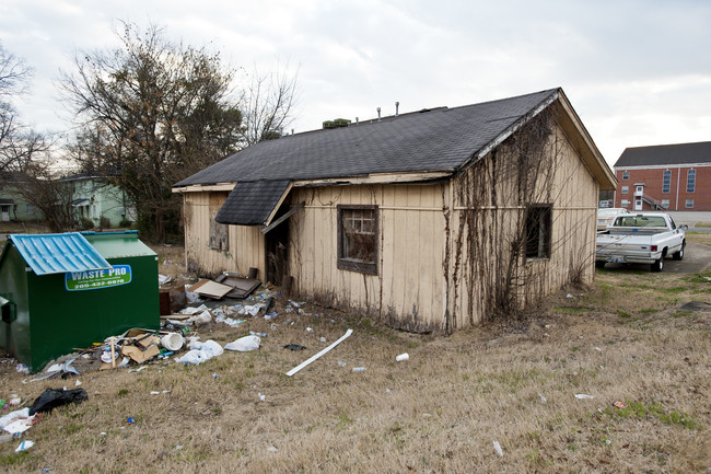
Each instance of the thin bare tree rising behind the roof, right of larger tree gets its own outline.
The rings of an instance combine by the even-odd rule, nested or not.
[[[293,122],[296,78],[298,72],[290,76],[287,68],[268,74],[255,68],[241,101],[242,139],[246,146],[278,138]]]

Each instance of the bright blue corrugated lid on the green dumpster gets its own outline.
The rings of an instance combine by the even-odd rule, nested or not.
[[[36,275],[101,270],[112,267],[79,232],[10,234],[10,240]]]

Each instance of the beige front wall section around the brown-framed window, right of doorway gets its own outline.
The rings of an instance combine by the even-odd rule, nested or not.
[[[397,327],[441,330],[445,310],[443,185],[295,188],[291,274],[296,291]],[[378,207],[378,274],[337,267],[338,205]]]

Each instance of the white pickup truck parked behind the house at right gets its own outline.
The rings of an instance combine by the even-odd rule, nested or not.
[[[664,257],[684,258],[686,226],[678,228],[668,213],[643,212],[617,216],[607,230],[597,233],[595,266],[608,262],[651,264],[662,271]]]

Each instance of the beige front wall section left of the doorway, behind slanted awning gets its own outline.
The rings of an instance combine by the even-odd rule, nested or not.
[[[222,271],[247,275],[250,267],[265,275],[265,239],[258,227],[228,226],[229,248],[210,248],[210,222],[220,210],[228,192],[184,193],[185,257],[188,269],[200,276]]]

